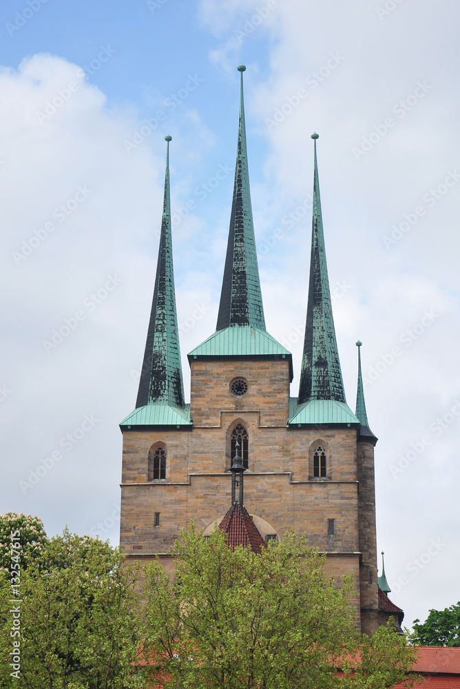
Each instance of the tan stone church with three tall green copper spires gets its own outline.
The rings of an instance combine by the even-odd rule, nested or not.
[[[169,548],[191,519],[206,535],[216,523],[226,528],[239,515],[240,531],[251,531],[253,543],[282,539],[293,528],[326,553],[328,572],[354,575],[362,633],[386,624],[390,615],[400,626],[404,613],[388,599],[386,579],[377,579],[377,438],[364,404],[361,342],[354,413],[342,381],[324,247],[318,135],[311,136],[313,227],[304,350],[298,396],[291,397],[292,355],[264,321],[244,123],[245,69],[238,67],[238,147],[216,332],[188,354],[190,404],[180,363],[171,136],[165,137],[165,196],[147,343],[136,409],[120,424],[121,547],[129,559],[147,562],[158,555],[171,568]]]

